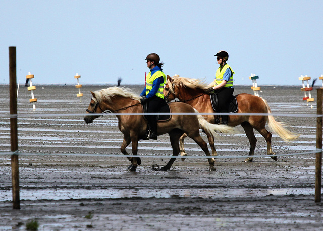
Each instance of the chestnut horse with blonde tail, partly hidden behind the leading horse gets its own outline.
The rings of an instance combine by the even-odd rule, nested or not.
[[[214,113],[210,96],[205,94],[205,89],[210,86],[204,84],[198,79],[188,79],[184,77],[170,77],[167,76],[167,84],[164,86],[164,96],[167,101],[171,101],[178,98],[180,101],[185,102],[200,113]],[[271,113],[271,109],[268,106],[266,100],[250,95],[250,94],[238,94],[236,96],[238,102],[238,113]],[[210,123],[214,123],[214,115],[207,115],[206,120]],[[254,150],[256,147],[257,139],[254,135],[253,129],[257,130],[267,141],[267,155],[275,155],[272,151],[272,134],[267,131],[265,124],[268,121],[269,128],[281,137],[284,141],[290,142],[299,137],[298,134],[292,133],[284,128],[284,123],[277,122],[272,115],[235,115],[229,116],[229,126],[235,127],[241,125],[249,139],[250,151],[248,158],[245,162],[251,162]],[[180,139],[181,156],[186,156],[184,149],[184,138]],[[212,155],[217,156],[216,148],[214,147],[214,139],[210,135],[208,136],[209,144],[212,149]],[[272,159],[277,160],[277,156],[271,156]],[[183,160],[183,159],[182,159]]]

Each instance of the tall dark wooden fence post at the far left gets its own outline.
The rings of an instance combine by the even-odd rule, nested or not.
[[[17,127],[17,75],[16,75],[16,47],[9,47],[9,90],[10,90],[10,144],[11,151],[18,151],[18,127]],[[19,162],[18,154],[11,155],[12,177],[12,207],[20,209],[19,195]]]

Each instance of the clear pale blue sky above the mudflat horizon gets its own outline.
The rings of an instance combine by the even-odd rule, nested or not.
[[[321,1],[0,0],[0,84],[9,83],[9,47],[17,82],[144,84],[145,58],[163,72],[210,83],[220,50],[234,84],[299,85],[323,74]],[[316,82],[322,84],[321,80]]]

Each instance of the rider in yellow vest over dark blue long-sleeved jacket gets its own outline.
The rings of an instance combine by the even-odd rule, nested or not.
[[[146,87],[141,92],[141,104],[148,104],[148,113],[156,113],[160,107],[166,104],[164,99],[164,84],[166,83],[166,75],[163,73],[163,63],[159,63],[160,58],[158,54],[151,53],[146,57],[147,67],[150,72],[146,77]],[[157,116],[147,116],[148,126],[150,126],[150,134],[146,134],[145,139],[157,140]]]

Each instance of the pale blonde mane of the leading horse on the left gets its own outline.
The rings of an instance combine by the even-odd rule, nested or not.
[[[115,96],[121,96],[125,98],[130,98],[140,101],[141,97],[136,96],[131,92],[129,88],[120,88],[120,87],[109,87],[106,89],[98,90],[93,92],[97,99],[98,103],[101,103],[102,100],[107,100],[109,103],[113,103],[112,99]],[[93,99],[95,101],[95,99]]]

